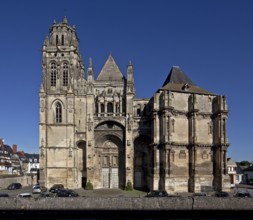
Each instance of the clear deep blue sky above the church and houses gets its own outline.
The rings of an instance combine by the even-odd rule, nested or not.
[[[0,137],[39,152],[41,48],[49,27],[67,16],[95,76],[110,52],[121,71],[131,60],[137,96],[151,97],[178,65],[191,80],[226,95],[228,156],[253,160],[253,1],[0,1]]]

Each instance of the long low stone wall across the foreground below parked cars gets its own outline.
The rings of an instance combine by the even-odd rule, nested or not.
[[[1,198],[0,210],[252,210],[253,198]]]

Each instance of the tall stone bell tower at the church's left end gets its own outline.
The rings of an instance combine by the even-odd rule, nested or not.
[[[86,81],[75,27],[66,16],[51,25],[42,54],[40,182],[47,187],[53,182],[71,187],[75,178],[75,92],[84,93],[80,85]]]

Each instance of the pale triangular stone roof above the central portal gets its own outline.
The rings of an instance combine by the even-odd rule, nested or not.
[[[122,81],[124,79],[118,65],[110,54],[102,70],[100,71],[98,81]]]

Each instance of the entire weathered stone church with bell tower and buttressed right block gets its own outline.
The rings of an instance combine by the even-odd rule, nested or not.
[[[85,69],[66,17],[54,22],[42,50],[40,183],[68,188],[227,190],[228,107],[225,96],[195,85],[173,66],[150,99],[137,98],[109,54]],[[97,77],[95,77],[97,75]]]

